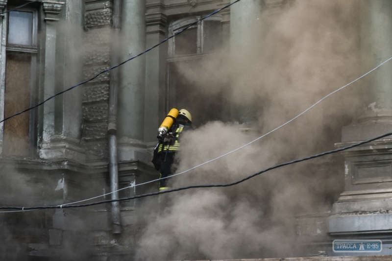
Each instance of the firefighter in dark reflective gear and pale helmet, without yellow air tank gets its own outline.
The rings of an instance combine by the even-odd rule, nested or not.
[[[192,116],[187,110],[181,109],[167,133],[162,137],[158,136],[159,143],[154,151],[156,155],[153,163],[155,168],[159,169],[161,178],[172,175],[174,155],[180,148],[180,135],[182,131],[190,128],[192,128]],[[160,180],[159,191],[169,189],[167,181],[167,178]]]

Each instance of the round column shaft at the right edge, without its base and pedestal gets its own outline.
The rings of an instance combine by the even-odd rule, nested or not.
[[[368,71],[392,57],[392,2],[363,1],[361,8],[361,58]],[[392,115],[391,71],[392,63],[387,63],[366,77],[370,117]]]

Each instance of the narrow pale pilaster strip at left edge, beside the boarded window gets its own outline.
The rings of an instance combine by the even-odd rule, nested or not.
[[[0,0],[0,13],[4,12],[7,5],[7,0]],[[7,37],[7,23],[6,16],[0,16],[0,119],[4,119],[4,97],[5,97],[5,45]],[[4,123],[0,123],[0,154],[2,153],[4,134]]]

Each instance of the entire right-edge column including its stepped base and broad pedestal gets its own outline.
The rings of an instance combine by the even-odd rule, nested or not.
[[[369,71],[392,56],[392,2],[361,2],[361,57]],[[368,111],[356,124],[344,126],[337,147],[365,141],[392,130],[392,63],[366,77]],[[333,205],[329,233],[333,237],[392,238],[392,137],[343,152],[345,191]],[[377,237],[378,238],[378,237]],[[383,240],[384,241],[384,240]],[[391,242],[391,240],[388,240]],[[384,243],[384,242],[383,242]],[[387,247],[389,246],[389,247]],[[391,254],[385,242],[380,255]],[[331,251],[331,254],[332,251]],[[336,254],[334,254],[336,255]]]

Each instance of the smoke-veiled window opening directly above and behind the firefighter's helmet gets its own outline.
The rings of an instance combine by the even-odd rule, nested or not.
[[[195,23],[199,17],[188,17],[172,22],[169,36]],[[166,110],[170,108],[187,109],[192,114],[194,126],[200,126],[210,120],[224,120],[226,111],[221,91],[205,92],[195,79],[187,73],[203,66],[209,52],[222,47],[222,18],[209,17],[170,39],[168,45],[168,80],[166,89]],[[185,71],[187,73],[185,73]],[[213,88],[213,87],[211,87]],[[217,90],[224,89],[217,87]]]

